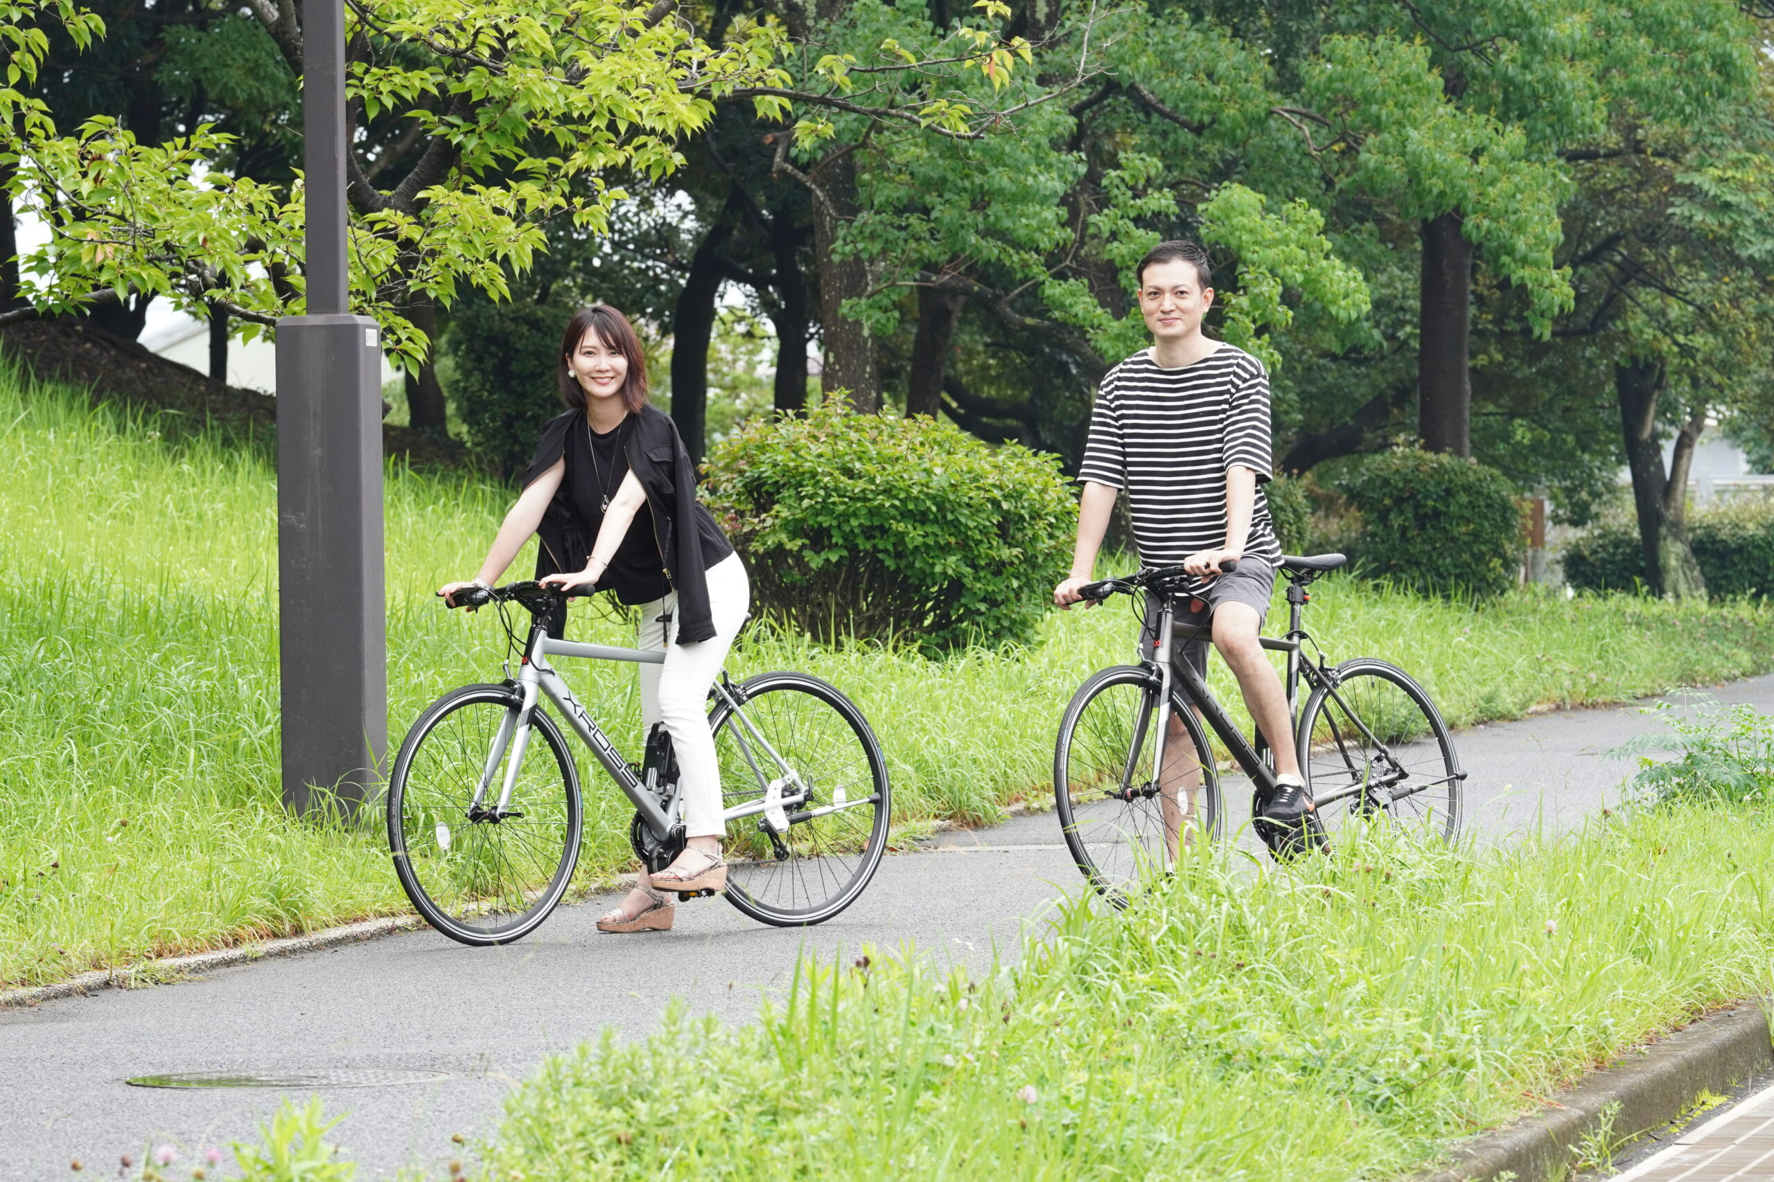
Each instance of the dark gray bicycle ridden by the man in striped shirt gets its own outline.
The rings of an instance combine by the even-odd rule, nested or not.
[[[1295,719],[1300,771],[1315,812],[1304,835],[1272,822],[1254,828],[1276,856],[1311,844],[1334,849],[1352,826],[1385,824],[1451,842],[1460,831],[1465,773],[1430,695],[1401,668],[1373,657],[1330,666],[1313,663],[1316,643],[1300,626],[1307,587],[1345,564],[1343,555],[1284,556],[1288,633],[1263,636],[1288,659],[1288,716]],[[1229,571],[1233,564],[1226,564]],[[1146,569],[1080,588],[1086,599],[1116,594],[1157,597],[1158,643],[1206,638],[1208,629],[1178,624],[1173,597],[1183,567]],[[1299,707],[1300,684],[1311,695]],[[1215,840],[1224,828],[1219,773],[1208,728],[1254,785],[1256,801],[1276,789],[1272,757],[1258,732],[1245,739],[1187,663],[1142,659],[1089,677],[1071,696],[1054,748],[1054,801],[1079,870],[1123,904],[1142,874],[1167,870],[1183,844]],[[1180,730],[1180,735],[1173,732]],[[1256,812],[1252,803],[1252,813]]]

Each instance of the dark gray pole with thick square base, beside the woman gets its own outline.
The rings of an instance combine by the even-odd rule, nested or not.
[[[307,315],[277,323],[284,805],[355,810],[389,748],[381,333],[349,315],[344,5],[302,4]]]

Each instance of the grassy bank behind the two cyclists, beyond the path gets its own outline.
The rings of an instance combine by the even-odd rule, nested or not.
[[[0,984],[404,911],[373,829],[279,806],[263,450],[0,370]],[[396,743],[444,689],[498,677],[493,617],[445,613],[431,590],[474,571],[507,502],[477,478],[389,471]],[[596,606],[575,611],[580,636],[624,629]],[[1522,594],[1471,610],[1332,578],[1309,624],[1332,656],[1416,672],[1455,723],[1774,666],[1774,613],[1746,604]],[[1130,654],[1123,601],[1054,613],[1027,649],[942,663],[759,627],[733,668],[805,668],[848,691],[887,751],[896,822],[917,831],[1043,801],[1061,709],[1086,673]],[[568,677],[614,734],[637,734],[632,670]],[[582,769],[589,884],[626,867],[626,803]]]

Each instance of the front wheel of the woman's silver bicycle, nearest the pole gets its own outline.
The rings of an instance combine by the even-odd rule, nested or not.
[[[406,734],[389,780],[401,888],[431,927],[465,945],[507,945],[536,930],[578,861],[573,757],[539,705],[523,735],[520,705],[509,686],[444,695]],[[500,806],[513,758],[522,762]]]

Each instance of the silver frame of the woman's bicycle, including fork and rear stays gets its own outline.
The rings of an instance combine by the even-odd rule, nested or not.
[[[663,665],[663,649],[617,649],[610,645],[582,645],[569,640],[557,640],[548,634],[548,629],[539,624],[530,627],[529,642],[525,643],[523,661],[518,668],[516,682],[518,693],[522,695],[516,709],[506,712],[504,721],[498,725],[498,734],[493,737],[493,750],[486,755],[486,766],[481,769],[481,782],[474,790],[474,803],[470,805],[470,813],[483,808],[488,790],[493,785],[493,776],[498,774],[498,764],[506,762],[509,750],[509,762],[506,762],[504,783],[498,789],[498,805],[491,810],[495,815],[502,815],[511,801],[511,792],[518,782],[518,767],[523,764],[523,753],[530,741],[530,718],[536,712],[536,705],[541,698],[548,698],[561,711],[568,727],[573,734],[591,748],[591,753],[608,773],[616,787],[623,790],[623,796],[630,799],[635,812],[640,813],[642,822],[656,838],[665,838],[671,835],[672,828],[678,824],[678,812],[681,805],[681,794],[672,794],[662,806],[658,796],[640,782],[635,769],[623,758],[623,753],[616,750],[610,737],[598,727],[596,719],[585,711],[585,707],[573,696],[568,688],[566,679],[548,663],[548,657],[584,657],[589,661],[628,661],[633,665]],[[734,739],[740,744],[740,751],[745,755],[745,762],[752,774],[757,778],[757,785],[763,789],[763,797],[740,805],[736,808],[726,810],[722,813],[724,820],[734,820],[740,817],[754,817],[765,813],[765,820],[775,833],[788,831],[788,820],[784,808],[789,805],[800,805],[807,799],[809,790],[788,760],[759,734],[752,719],[745,716],[745,709],[736,695],[722,680],[715,682],[713,693],[733,709],[734,719],[740,727],[734,728]],[[747,739],[750,732],[750,739]],[[513,743],[514,741],[514,743]],[[781,776],[766,778],[765,771],[757,766],[757,757],[752,753],[752,743],[763,748],[765,755],[781,769]],[[823,815],[843,808],[843,805],[834,808],[818,808],[807,817]],[[777,819],[782,817],[782,824]],[[798,815],[797,815],[798,817]]]

